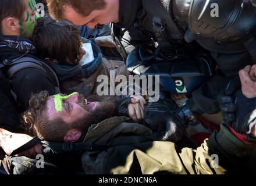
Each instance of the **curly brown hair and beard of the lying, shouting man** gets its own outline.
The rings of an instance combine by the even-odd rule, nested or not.
[[[88,120],[86,115],[81,116],[72,123],[67,123],[61,117],[49,120],[47,117],[48,98],[47,91],[31,96],[29,109],[22,116],[22,123],[30,135],[37,136],[41,140],[63,142],[70,129],[76,129],[82,133],[88,130],[90,126],[86,123]]]

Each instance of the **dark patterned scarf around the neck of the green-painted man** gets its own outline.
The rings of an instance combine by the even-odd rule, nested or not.
[[[3,47],[8,47],[10,49],[14,49],[19,53],[28,53],[35,54],[35,46],[34,44],[19,35],[0,35],[0,49]]]

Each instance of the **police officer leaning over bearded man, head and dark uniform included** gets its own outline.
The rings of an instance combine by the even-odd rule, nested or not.
[[[114,22],[113,35],[130,71],[164,74],[164,90],[191,93],[181,109],[166,110],[168,117],[150,113],[162,109],[161,104],[150,104],[150,108],[159,109],[148,109],[148,115],[165,118],[168,126],[177,125],[171,128],[182,128],[180,132],[169,130],[167,135],[182,134],[185,123],[202,113],[219,112],[219,93],[226,87],[227,91],[236,87],[230,82],[239,81],[238,71],[256,62],[256,8],[252,1],[98,0],[94,1],[98,11],[87,14],[86,8],[93,5],[90,1],[81,2],[83,5],[73,1],[48,2],[54,19],[67,19],[74,24],[84,20],[88,26]],[[105,6],[99,6],[104,2]],[[181,135],[175,136],[179,140]]]

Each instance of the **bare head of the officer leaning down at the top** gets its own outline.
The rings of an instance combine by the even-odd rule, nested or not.
[[[119,0],[47,0],[55,20],[69,20],[78,26],[95,28],[97,24],[119,21]]]

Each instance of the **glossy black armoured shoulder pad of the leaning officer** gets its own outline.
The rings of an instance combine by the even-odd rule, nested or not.
[[[198,37],[214,37],[215,42],[241,42],[256,27],[256,8],[243,0],[193,0],[189,28]]]

